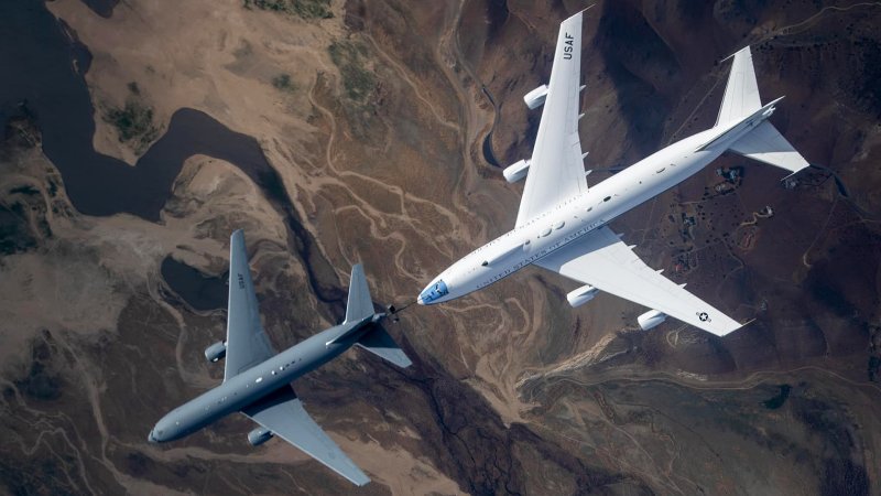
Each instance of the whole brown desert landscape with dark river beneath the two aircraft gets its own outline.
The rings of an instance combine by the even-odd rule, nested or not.
[[[411,303],[503,234],[558,22],[586,2],[56,0],[0,7],[0,490],[878,494],[881,3],[601,1],[585,17],[594,184],[713,126],[744,44],[794,181],[725,155],[614,220],[740,321],[717,338],[527,268],[389,324],[294,386],[373,483],[230,417],[146,434],[217,385],[229,234],[270,339],[341,320],[361,261]],[[730,175],[727,179],[717,173]]]

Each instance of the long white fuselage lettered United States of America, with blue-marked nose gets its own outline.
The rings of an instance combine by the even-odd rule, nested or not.
[[[703,170],[766,120],[774,100],[726,127],[698,132],[660,150],[556,207],[474,250],[420,293],[420,304],[455,300],[499,281]]]

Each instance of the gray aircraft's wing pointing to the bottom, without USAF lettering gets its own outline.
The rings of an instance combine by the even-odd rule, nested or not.
[[[242,409],[251,420],[272,431],[337,474],[363,486],[370,478],[358,468],[337,443],[312,420],[291,386],[284,386]]]

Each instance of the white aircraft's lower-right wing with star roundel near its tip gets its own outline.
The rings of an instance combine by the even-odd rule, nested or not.
[[[717,336],[741,327],[737,321],[646,266],[608,227],[588,233],[584,239],[534,263]]]

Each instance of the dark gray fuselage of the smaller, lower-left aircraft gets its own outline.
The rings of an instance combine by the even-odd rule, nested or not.
[[[168,412],[156,422],[148,439],[150,442],[174,441],[240,411],[336,358],[355,345],[381,317],[382,314],[376,314],[358,322],[336,325],[254,365]]]

